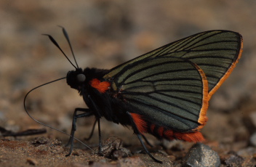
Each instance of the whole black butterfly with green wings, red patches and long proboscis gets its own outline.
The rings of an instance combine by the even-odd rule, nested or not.
[[[64,28],[63,33],[71,47]],[[52,36],[49,38],[60,49],[55,39]],[[145,152],[157,163],[161,161],[148,152],[143,139],[148,141],[143,134],[152,134],[157,139],[203,141],[204,137],[199,131],[207,122],[209,99],[235,68],[242,48],[239,33],[209,30],[161,46],[111,70],[82,70],[76,62],[72,47],[76,65],[60,49],[75,70],[55,81],[66,78],[68,85],[79,91],[88,106],[76,108],[73,113],[71,134],[68,134],[68,144],[71,144],[68,155],[71,155],[73,139],[76,139],[76,119],[92,115],[96,118],[92,132],[96,123],[99,129],[99,152],[102,147],[102,117],[113,123],[132,126]],[[34,89],[45,84],[48,83]],[[28,113],[25,99],[24,107]],[[82,113],[78,114],[78,111]]]

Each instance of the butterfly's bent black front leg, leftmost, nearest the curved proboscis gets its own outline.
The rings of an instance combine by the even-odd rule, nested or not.
[[[77,114],[78,111],[84,112],[81,114]],[[82,118],[82,117],[88,117],[90,115],[93,115],[92,110],[89,110],[88,108],[76,108],[74,113],[73,113],[73,121],[72,121],[72,129],[71,129],[71,137],[68,140],[68,144],[66,144],[66,146],[68,146],[69,144],[71,144],[70,150],[68,152],[68,155],[65,156],[69,156],[72,153],[73,150],[73,136],[75,134],[76,131],[76,119],[77,118]]]

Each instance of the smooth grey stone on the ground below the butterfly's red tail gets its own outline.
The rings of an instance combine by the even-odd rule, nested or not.
[[[220,156],[209,146],[196,143],[191,147],[183,159],[184,167],[214,167],[220,166]]]

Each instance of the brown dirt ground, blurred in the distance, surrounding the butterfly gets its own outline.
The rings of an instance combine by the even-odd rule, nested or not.
[[[68,30],[81,68],[110,69],[145,52],[205,30],[233,30],[244,37],[236,69],[213,95],[202,129],[220,155],[222,166],[255,166],[256,160],[256,1],[7,1],[0,2],[0,127],[12,132],[45,128],[25,113],[25,94],[41,83],[66,75],[73,67],[42,33],[55,37],[71,57],[63,37]],[[71,58],[71,61],[72,58]],[[28,110],[37,120],[69,133],[75,107],[86,107],[76,90],[57,81],[33,91]],[[78,121],[76,142],[68,154],[68,136],[47,134],[0,138],[0,166],[181,166],[193,143],[159,142],[145,155],[131,129],[101,121],[103,141],[113,137],[104,156],[97,155],[94,118]],[[35,137],[39,137],[35,139]],[[45,138],[41,138],[45,137]],[[109,143],[106,144],[109,146]],[[130,152],[130,153],[129,153]],[[127,157],[128,155],[128,157]],[[112,159],[113,160],[112,160]]]

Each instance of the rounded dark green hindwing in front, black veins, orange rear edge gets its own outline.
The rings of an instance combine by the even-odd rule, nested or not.
[[[180,132],[205,123],[207,79],[193,62],[178,57],[153,57],[126,65],[111,83],[129,105],[129,112]]]

